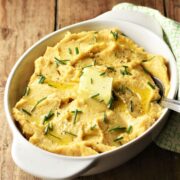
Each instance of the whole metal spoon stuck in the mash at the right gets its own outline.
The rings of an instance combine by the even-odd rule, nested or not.
[[[168,99],[168,98],[164,97],[164,86],[163,86],[162,82],[156,77],[153,77],[153,80],[160,90],[161,105],[165,108],[168,108],[168,109],[171,109],[173,111],[180,113],[180,101],[174,100],[174,99]]]

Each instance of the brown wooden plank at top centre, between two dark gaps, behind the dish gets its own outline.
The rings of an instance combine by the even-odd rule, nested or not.
[[[148,6],[164,13],[163,0],[58,0],[57,28],[94,18],[120,2]]]

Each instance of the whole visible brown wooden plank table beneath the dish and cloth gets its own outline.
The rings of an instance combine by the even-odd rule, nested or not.
[[[123,0],[0,0],[0,178],[35,180],[20,170],[11,158],[12,136],[3,110],[4,86],[20,55],[46,34],[61,27],[106,12]],[[180,21],[180,0],[129,0],[158,9]],[[154,143],[141,154],[111,171],[78,179],[180,179],[180,155]]]

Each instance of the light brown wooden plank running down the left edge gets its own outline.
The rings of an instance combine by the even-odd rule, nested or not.
[[[54,30],[54,0],[0,0],[0,179],[35,179],[11,158],[12,137],[3,112],[7,76],[20,55]]]

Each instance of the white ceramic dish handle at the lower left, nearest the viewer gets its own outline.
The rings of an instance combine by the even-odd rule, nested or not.
[[[95,158],[72,158],[56,155],[14,138],[12,158],[25,172],[46,179],[69,179],[80,176],[95,165]]]

